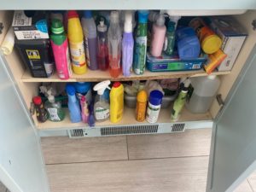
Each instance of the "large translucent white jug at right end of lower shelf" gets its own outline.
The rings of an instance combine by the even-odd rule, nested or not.
[[[189,102],[186,107],[192,113],[207,113],[217,93],[220,80],[215,75],[191,78]]]

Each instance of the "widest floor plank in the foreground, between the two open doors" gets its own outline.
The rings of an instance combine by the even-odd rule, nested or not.
[[[48,165],[51,192],[204,192],[208,157]]]

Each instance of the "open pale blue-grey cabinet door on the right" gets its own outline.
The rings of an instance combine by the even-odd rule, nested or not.
[[[256,171],[256,45],[212,130],[207,192],[233,191]]]

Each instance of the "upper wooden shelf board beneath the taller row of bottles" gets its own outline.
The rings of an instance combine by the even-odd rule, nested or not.
[[[215,75],[224,75],[229,74],[230,72],[214,72]],[[207,73],[203,69],[196,71],[182,71],[182,72],[158,72],[151,73],[146,71],[143,75],[131,74],[130,77],[125,77],[120,75],[119,78],[113,79],[110,77],[108,71],[91,71],[88,70],[84,75],[73,74],[70,79],[61,80],[58,78],[57,74],[53,74],[49,78],[32,78],[29,70],[26,70],[23,74],[21,81],[22,82],[97,82],[102,80],[111,80],[111,81],[130,81],[130,80],[148,80],[148,79],[172,79],[172,78],[183,78],[183,77],[200,77],[207,76]]]

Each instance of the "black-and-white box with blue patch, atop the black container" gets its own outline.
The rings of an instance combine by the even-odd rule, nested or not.
[[[49,38],[46,15],[43,11],[35,11],[35,15],[27,17],[23,10],[15,10],[12,26],[19,40]]]

